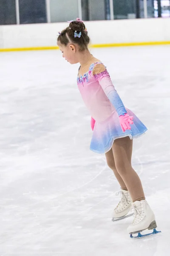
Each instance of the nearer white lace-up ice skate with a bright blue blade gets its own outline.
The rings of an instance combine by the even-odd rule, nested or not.
[[[132,203],[132,207],[134,209],[134,219],[127,228],[131,238],[141,238],[161,232],[156,231],[155,215],[146,200],[136,201]],[[142,235],[140,232],[146,229],[153,230],[153,233]],[[135,233],[138,233],[138,236],[132,236]]]

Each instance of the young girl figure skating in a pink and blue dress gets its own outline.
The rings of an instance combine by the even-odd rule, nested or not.
[[[147,128],[125,108],[106,67],[89,52],[89,42],[85,24],[79,18],[59,32],[57,39],[62,57],[70,64],[80,63],[77,84],[92,116],[90,149],[105,153],[108,166],[121,186],[121,200],[113,218],[124,217],[133,207],[128,233],[156,228],[155,215],[145,200],[141,180],[131,166],[133,138],[144,134]]]

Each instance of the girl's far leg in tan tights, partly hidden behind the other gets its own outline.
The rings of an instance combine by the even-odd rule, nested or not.
[[[127,187],[126,187],[124,181],[122,180],[122,178],[120,177],[119,173],[116,170],[112,148],[111,148],[110,151],[105,153],[105,156],[106,156],[106,160],[107,160],[108,166],[114,172],[114,175],[116,176],[116,179],[118,180],[118,182],[119,182],[119,184],[121,186],[121,189],[127,190]]]

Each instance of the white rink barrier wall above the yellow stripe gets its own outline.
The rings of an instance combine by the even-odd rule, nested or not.
[[[170,41],[170,18],[85,22],[92,44]],[[56,46],[68,23],[0,26],[0,48]]]

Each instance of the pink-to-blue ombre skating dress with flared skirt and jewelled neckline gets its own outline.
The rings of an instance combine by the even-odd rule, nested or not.
[[[108,71],[94,75],[93,70],[96,65],[103,64],[100,62],[91,64],[87,73],[77,77],[77,84],[86,107],[96,121],[90,149],[101,154],[112,148],[114,140],[127,136],[132,140],[144,134],[147,128],[132,111],[125,108]],[[130,125],[131,130],[123,132],[119,116],[125,113],[133,116],[133,124]]]

